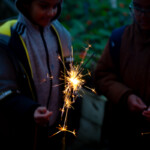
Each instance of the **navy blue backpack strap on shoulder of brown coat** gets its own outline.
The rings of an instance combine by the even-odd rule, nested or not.
[[[117,67],[119,67],[121,39],[125,28],[126,25],[113,30],[110,36],[110,42],[109,42],[110,55],[112,57],[114,64]]]

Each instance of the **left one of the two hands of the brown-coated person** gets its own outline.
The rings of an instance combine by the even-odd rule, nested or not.
[[[131,112],[142,112],[147,108],[142,99],[134,94],[128,96],[127,104]]]

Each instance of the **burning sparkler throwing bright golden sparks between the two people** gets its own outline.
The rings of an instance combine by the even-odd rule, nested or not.
[[[89,45],[85,49],[84,57],[82,58],[80,65],[74,66],[73,63],[70,63],[70,70],[67,70],[65,64],[61,60],[61,57],[58,56],[58,59],[62,62],[62,64],[64,65],[64,68],[66,69],[66,75],[63,74],[64,79],[66,81],[65,89],[63,91],[64,105],[63,105],[63,108],[61,109],[61,112],[62,112],[61,118],[63,118],[64,115],[65,115],[65,117],[64,117],[63,125],[59,124],[59,127],[57,127],[58,132],[54,133],[50,137],[52,137],[56,134],[59,134],[60,132],[69,132],[69,133],[72,133],[74,136],[76,136],[75,129],[73,131],[68,130],[67,118],[68,118],[69,109],[73,108],[72,104],[75,103],[76,98],[78,97],[78,91],[81,90],[82,86],[85,83],[85,80],[83,79],[83,75],[81,73],[83,72],[84,67],[87,65],[87,63],[91,60],[91,58],[94,55],[94,54],[92,54],[89,57],[89,59],[87,60],[87,62],[85,64],[83,63],[85,56],[87,54],[87,51],[89,50],[90,47],[91,47],[91,45]],[[73,51],[72,51],[72,58],[73,58]],[[71,60],[73,60],[72,58],[71,58]],[[90,75],[90,73],[88,73],[88,75]],[[90,89],[90,88],[88,88],[88,89]],[[95,90],[91,89],[91,91],[94,92]]]

